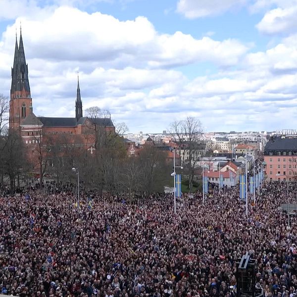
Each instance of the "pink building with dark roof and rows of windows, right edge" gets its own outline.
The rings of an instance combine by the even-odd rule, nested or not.
[[[271,138],[264,161],[268,181],[297,181],[297,137]]]

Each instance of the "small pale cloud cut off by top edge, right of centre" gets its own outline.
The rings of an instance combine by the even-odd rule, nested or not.
[[[246,2],[246,0],[179,0],[177,11],[187,18],[194,19],[218,15],[231,8],[240,7]]]

